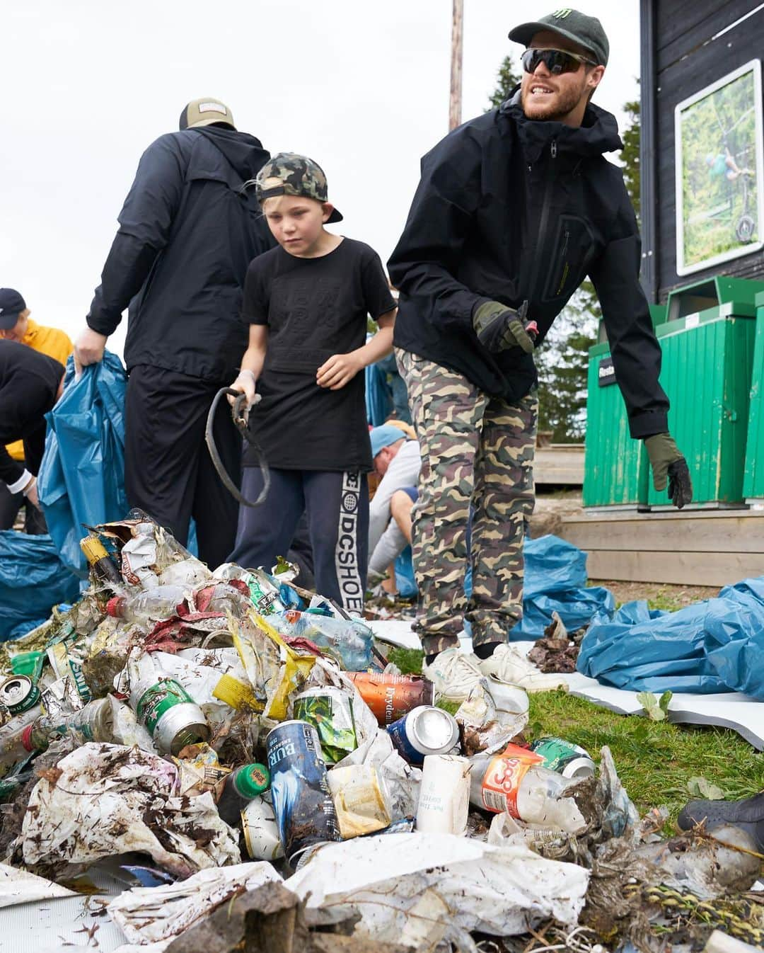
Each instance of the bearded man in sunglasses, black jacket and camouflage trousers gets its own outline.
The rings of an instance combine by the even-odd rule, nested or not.
[[[462,618],[489,659],[522,615],[522,540],[533,512],[538,409],[533,349],[589,274],[632,436],[657,489],[692,498],[668,434],[660,348],[639,286],[640,244],[608,112],[590,105],[608,62],[599,20],[556,10],[510,33],[520,89],[454,130],[422,177],[389,263],[394,344],[422,448],[414,507],[416,623],[425,654],[456,645]],[[472,506],[472,599],[462,591]],[[490,663],[487,663],[490,664]]]

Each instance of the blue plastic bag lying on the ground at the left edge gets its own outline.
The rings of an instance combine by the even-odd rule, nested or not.
[[[58,558],[50,536],[0,532],[0,641],[17,639],[79,596],[79,579]]]

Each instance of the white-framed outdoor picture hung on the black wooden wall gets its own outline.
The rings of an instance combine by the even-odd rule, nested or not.
[[[676,274],[764,247],[761,62],[679,103],[674,138]]]

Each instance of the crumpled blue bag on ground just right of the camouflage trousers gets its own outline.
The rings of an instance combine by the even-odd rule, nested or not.
[[[601,586],[587,588],[586,553],[555,536],[526,537],[523,618],[510,639],[540,639],[556,612],[573,632],[593,618],[611,618],[613,594]]]

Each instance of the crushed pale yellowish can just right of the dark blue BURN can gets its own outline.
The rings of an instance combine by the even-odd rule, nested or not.
[[[372,764],[333,768],[329,789],[344,841],[375,834],[390,824],[390,795]]]

